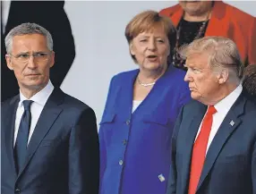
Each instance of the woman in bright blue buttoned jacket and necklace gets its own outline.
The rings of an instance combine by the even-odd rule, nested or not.
[[[176,117],[190,99],[185,72],[167,65],[175,27],[158,12],[136,15],[125,29],[139,69],[110,82],[100,122],[100,194],[165,194]]]

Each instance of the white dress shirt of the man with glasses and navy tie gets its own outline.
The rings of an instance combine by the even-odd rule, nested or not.
[[[19,102],[19,105],[17,108],[16,118],[15,118],[13,148],[15,146],[15,142],[17,139],[19,126],[20,126],[20,122],[21,122],[21,117],[24,112],[24,106],[22,103],[23,100],[33,100],[33,103],[30,106],[31,123],[30,123],[30,134],[29,134],[29,139],[28,139],[28,145],[29,145],[31,136],[32,136],[32,134],[35,130],[36,124],[38,122],[38,118],[39,118],[40,114],[42,113],[42,110],[47,103],[47,99],[48,99],[48,97],[50,97],[53,90],[54,90],[54,86],[50,80],[48,81],[47,86],[44,89],[41,89],[33,97],[30,97],[30,99],[27,99],[26,97],[24,97],[22,95],[21,89],[20,89],[20,102]]]

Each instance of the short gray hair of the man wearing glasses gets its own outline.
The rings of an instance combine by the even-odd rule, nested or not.
[[[41,34],[47,38],[47,48],[52,51],[54,47],[53,38],[45,28],[39,26],[36,23],[21,23],[21,25],[13,28],[5,37],[5,47],[7,54],[11,54],[13,48],[13,37],[30,35],[30,34]]]

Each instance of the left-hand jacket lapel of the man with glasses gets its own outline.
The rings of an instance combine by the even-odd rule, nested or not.
[[[16,111],[19,104],[19,95],[16,97],[13,97],[13,99],[10,102],[10,105],[8,106],[8,110],[5,110],[5,113],[2,113],[2,116],[4,117],[2,121],[5,121],[4,123],[4,136],[5,136],[5,148],[6,148],[6,154],[9,159],[9,162],[12,166],[13,172],[16,174],[15,170],[15,164],[14,164],[14,156],[13,156],[13,138],[14,138],[14,127],[15,127],[15,118],[16,118]]]

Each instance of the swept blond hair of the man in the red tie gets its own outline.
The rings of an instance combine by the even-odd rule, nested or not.
[[[231,75],[241,80],[244,66],[235,42],[223,37],[205,37],[194,40],[179,50],[183,59],[193,54],[209,55],[209,65],[213,68],[226,68]],[[233,73],[232,73],[233,72]]]

